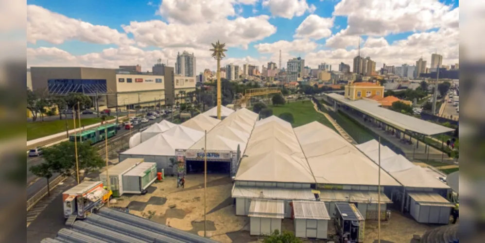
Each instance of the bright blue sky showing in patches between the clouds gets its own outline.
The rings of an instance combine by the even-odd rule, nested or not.
[[[233,6],[237,13],[237,16],[229,16],[227,18],[235,19],[236,17],[248,18],[260,15],[267,15],[270,16],[267,22],[277,28],[276,33],[263,36],[262,39],[259,40],[249,41],[247,43],[247,50],[244,50],[243,48],[241,48],[241,46],[229,47],[227,56],[230,56],[232,58],[245,58],[248,56],[252,58],[260,58],[261,56],[266,56],[270,58],[272,54],[259,53],[258,50],[255,48],[255,45],[260,43],[274,43],[280,40],[285,40],[288,42],[294,41],[293,35],[295,34],[295,30],[309,15],[314,14],[324,18],[332,17],[334,7],[339,2],[338,0],[307,0],[308,6],[314,5],[316,9],[312,13],[311,11],[305,11],[304,14],[300,16],[295,15],[291,19],[289,19],[275,15],[275,13],[272,13],[270,11],[269,7],[263,7],[262,1],[263,0],[256,0],[255,5],[234,4]],[[458,1],[455,0],[445,0],[440,2],[446,5],[452,5],[453,8],[458,7]],[[168,19],[157,14],[157,10],[160,7],[161,1],[27,0],[27,4],[40,6],[44,9],[51,11],[52,13],[61,14],[72,19],[82,20],[93,25],[107,26],[110,29],[117,30],[121,34],[126,34],[122,28],[122,25],[130,25],[130,22],[132,21],[146,22],[150,20],[162,20],[166,23],[168,22]],[[239,12],[240,9],[242,9],[242,12]],[[333,26],[330,28],[330,31],[332,35],[336,35],[339,31],[346,29],[346,27],[347,17],[337,16],[334,18]],[[437,31],[438,29],[439,28],[430,28],[422,32],[432,32]],[[387,40],[389,44],[392,44],[398,40],[405,40],[408,38],[408,36],[415,33],[416,31],[405,31],[402,33],[385,35],[383,37],[385,38],[385,40]],[[53,35],[51,36],[51,38],[55,38],[55,33],[50,34]],[[134,38],[134,35],[132,33],[128,33],[127,36],[129,38]],[[367,35],[365,34],[361,36],[364,40],[367,37]],[[318,45],[315,49],[312,50],[312,52],[335,49],[334,47],[326,46],[326,42],[329,37],[330,36],[320,39],[312,39],[312,42]],[[85,55],[88,53],[98,53],[108,48],[118,47],[116,43],[99,44],[94,43],[93,41],[85,41],[83,38],[67,38],[63,40],[62,43],[57,44],[53,44],[51,40],[52,39],[48,38],[37,38],[35,44],[28,43],[27,47],[32,49],[37,49],[40,47],[57,48],[65,52],[69,52],[74,56]],[[137,46],[137,44],[134,44],[134,46]],[[147,47],[140,47],[138,45],[137,47],[141,48],[143,51],[163,50],[164,48],[156,45],[149,45]],[[353,49],[353,47],[346,48],[347,51],[350,51],[351,49]],[[288,53],[290,53],[291,55],[302,56],[308,54],[303,51],[289,51]]]

